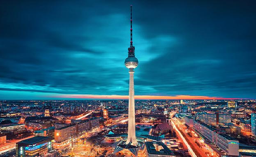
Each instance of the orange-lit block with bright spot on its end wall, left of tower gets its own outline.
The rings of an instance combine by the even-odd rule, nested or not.
[[[56,142],[63,142],[76,136],[76,124],[70,124],[69,126],[64,126],[62,128],[55,129],[54,140]]]

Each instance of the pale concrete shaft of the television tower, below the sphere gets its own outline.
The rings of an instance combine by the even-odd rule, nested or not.
[[[126,144],[132,142],[131,145],[137,146],[135,136],[135,103],[134,103],[134,69],[130,68],[130,83],[129,83],[129,111],[128,111],[128,138]]]

